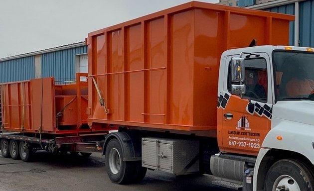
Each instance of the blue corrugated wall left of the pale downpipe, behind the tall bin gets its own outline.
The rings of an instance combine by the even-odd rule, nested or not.
[[[264,10],[271,11],[271,12],[279,12],[279,13],[295,15],[295,3],[285,4],[285,5],[276,6],[276,7],[272,7],[272,8],[267,8]],[[289,26],[289,45],[291,45],[291,46],[294,45],[294,40],[295,40],[295,29],[294,28],[295,28],[295,22],[292,21],[292,22],[290,22],[290,26]]]

